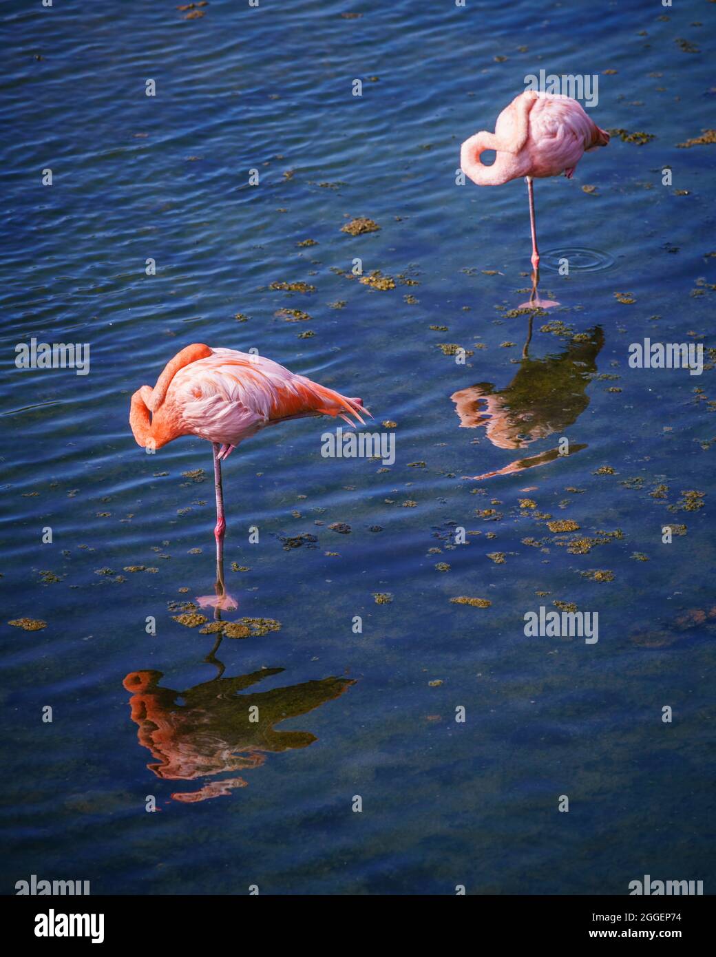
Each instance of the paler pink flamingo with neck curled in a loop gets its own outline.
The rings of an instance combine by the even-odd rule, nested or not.
[[[609,143],[609,133],[592,122],[571,97],[526,90],[503,109],[495,132],[482,130],[465,140],[460,149],[460,167],[478,186],[502,186],[520,176],[526,178],[529,195],[529,225],[532,231],[532,266],[540,254],[534,218],[532,179],[558,176],[568,179],[582,156]],[[481,163],[485,149],[497,151],[491,167]]]

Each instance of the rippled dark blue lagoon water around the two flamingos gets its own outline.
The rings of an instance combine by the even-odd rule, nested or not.
[[[347,19],[338,2],[212,3],[186,21],[168,3],[4,5],[7,888],[33,873],[96,894],[624,894],[644,874],[713,886],[713,372],[627,360],[645,336],[713,343],[716,147],[677,144],[712,124],[716,8],[415,7]],[[614,136],[571,181],[536,184],[542,248],[583,268],[561,277],[546,255],[540,296],[561,305],[533,320],[528,361],[545,374],[530,410],[515,385],[527,319],[505,315],[529,291],[526,189],[455,175],[460,142],[541,67],[598,74],[596,122],[655,139]],[[355,216],[380,231],[342,233]],[[355,256],[395,288],[334,271]],[[281,281],[316,291],[269,288]],[[559,321],[591,338],[593,370],[571,363]],[[16,369],[32,336],[89,343],[90,374]],[[185,438],[145,456],[127,425],[131,392],[190,342],[257,348],[396,424],[388,471],[323,458],[328,420],[235,452],[239,609],[225,616],[281,627],[214,652],[173,604],[213,590],[211,450]],[[459,365],[440,344],[472,354]],[[476,386],[557,431],[518,450],[460,428],[451,396]],[[547,452],[559,430],[584,447],[461,478]],[[184,475],[201,468],[205,481]],[[684,510],[689,490],[704,507]],[[579,531],[550,532],[557,519]],[[686,534],[663,545],[670,522]],[[458,526],[480,534],[454,545]],[[298,535],[318,541],[284,548]],[[608,541],[573,554],[580,536]],[[138,566],[156,570],[124,570]],[[614,580],[581,574],[593,569]],[[463,595],[491,605],[450,602]],[[525,612],[555,600],[599,612],[597,644],[525,636]],[[47,626],[7,625],[23,616]],[[145,723],[144,744],[143,721],[158,729]]]

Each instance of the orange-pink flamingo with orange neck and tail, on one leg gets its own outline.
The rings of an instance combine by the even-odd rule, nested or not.
[[[361,412],[369,414],[361,399],[347,399],[271,359],[194,343],[168,362],[154,389],[142,386],[132,395],[129,425],[137,444],[152,451],[180,435],[198,435],[213,443],[216,591],[223,595],[222,460],[268,425],[308,415],[340,415],[354,425],[348,417],[353,415],[365,425]]]

